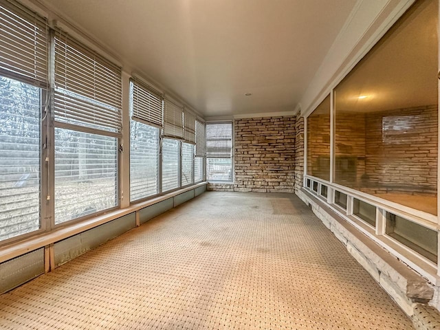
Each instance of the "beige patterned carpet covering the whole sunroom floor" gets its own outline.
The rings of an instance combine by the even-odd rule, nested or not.
[[[412,329],[299,199],[206,192],[0,296],[0,329]]]

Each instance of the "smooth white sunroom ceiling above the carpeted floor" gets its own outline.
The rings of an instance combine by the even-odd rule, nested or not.
[[[40,1],[206,116],[293,111],[356,2]]]

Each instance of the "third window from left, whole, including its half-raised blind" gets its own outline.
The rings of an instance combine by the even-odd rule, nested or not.
[[[162,96],[134,79],[130,101],[130,201],[136,201],[159,192]]]

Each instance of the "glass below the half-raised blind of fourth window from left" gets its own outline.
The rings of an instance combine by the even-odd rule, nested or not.
[[[173,139],[162,140],[162,191],[179,188],[179,144]]]

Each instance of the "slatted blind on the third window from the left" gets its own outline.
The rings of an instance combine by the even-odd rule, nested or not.
[[[162,95],[136,78],[131,84],[133,120],[162,129]]]

